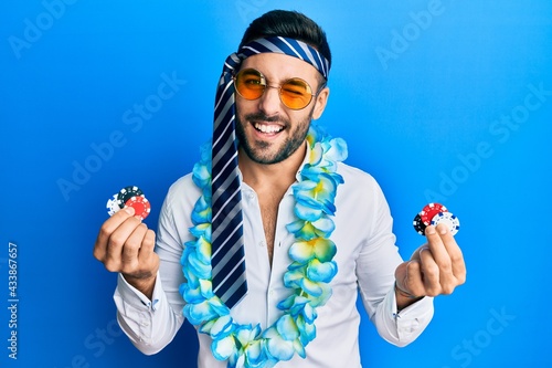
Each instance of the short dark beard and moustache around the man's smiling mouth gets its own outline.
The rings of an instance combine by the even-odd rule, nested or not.
[[[312,120],[312,112],[302,120],[291,125],[288,119],[279,116],[268,117],[262,112],[247,114],[243,117],[236,114],[236,135],[240,141],[240,147],[244,150],[247,157],[257,164],[272,165],[278,164],[291,156],[299,147],[302,146],[308,135],[310,122]],[[267,123],[279,123],[284,126],[284,130],[289,130],[288,138],[280,145],[277,150],[274,150],[275,144],[265,140],[248,139],[245,135],[245,125],[255,127],[250,122],[262,120]]]

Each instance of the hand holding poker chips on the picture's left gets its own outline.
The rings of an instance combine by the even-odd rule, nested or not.
[[[151,298],[159,270],[159,256],[153,252],[156,233],[134,214],[134,208],[127,207],[104,222],[94,244],[94,256]]]

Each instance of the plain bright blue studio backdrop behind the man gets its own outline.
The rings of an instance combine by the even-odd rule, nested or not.
[[[467,283],[412,345],[362,312],[364,367],[550,367],[552,2],[3,1],[0,14],[0,367],[194,367],[185,324],[144,356],[92,255],[107,199],[152,203],[212,129],[222,63],[275,9],[305,12],[335,60],[319,120],[372,174],[401,254],[427,202],[461,222]],[[307,348],[308,350],[308,348]]]

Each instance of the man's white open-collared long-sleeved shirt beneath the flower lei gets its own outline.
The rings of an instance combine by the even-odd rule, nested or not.
[[[357,368],[360,315],[357,296],[385,340],[405,346],[427,326],[433,316],[433,298],[396,311],[394,271],[402,262],[392,233],[388,203],[375,180],[368,174],[339,164],[344,183],[338,187],[336,230],[330,239],[337,245],[338,273],[331,281],[333,294],[318,307],[315,322],[317,337],[307,348],[306,359],[295,355],[277,368]],[[188,175],[172,185],[159,218],[156,252],[161,260],[152,299],[130,286],[119,275],[115,303],[118,320],[132,344],[145,354],[156,354],[169,344],[182,325],[184,301],[179,286],[184,282],[180,256],[183,244],[192,240],[190,212],[200,190]],[[289,295],[283,276],[290,263],[287,255],[295,236],[286,230],[294,220],[295,199],[289,188],[284,196],[276,223],[273,264],[270,266],[261,208],[255,191],[242,182],[247,295],[231,311],[241,324],[261,323],[263,329],[280,315],[276,307]],[[225,361],[211,354],[211,338],[199,334],[199,368],[225,368]],[[185,347],[182,347],[185,349]],[[193,354],[193,351],[187,351]]]

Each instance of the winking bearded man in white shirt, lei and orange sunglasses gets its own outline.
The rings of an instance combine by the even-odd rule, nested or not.
[[[330,65],[310,19],[255,20],[225,63],[212,157],[170,188],[157,240],[130,208],[102,227],[94,255],[119,273],[118,320],[145,354],[169,344],[185,315],[202,368],[361,367],[358,291],[379,334],[404,346],[429,323],[433,297],[464,283],[446,227],[427,227],[427,243],[401,260],[378,183],[311,126]]]

